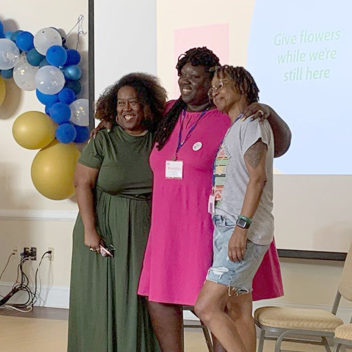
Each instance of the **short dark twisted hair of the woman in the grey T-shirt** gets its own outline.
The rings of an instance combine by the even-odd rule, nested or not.
[[[237,92],[246,96],[249,104],[259,101],[259,89],[253,76],[243,67],[224,65],[216,68],[216,77],[227,76],[232,80],[233,86]]]

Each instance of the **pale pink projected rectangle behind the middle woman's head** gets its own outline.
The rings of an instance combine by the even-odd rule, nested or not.
[[[181,28],[174,31],[174,67],[178,57],[188,49],[206,46],[219,57],[220,62],[229,63],[229,23],[204,25],[200,27]],[[177,72],[175,71],[174,96],[179,96],[177,84]]]

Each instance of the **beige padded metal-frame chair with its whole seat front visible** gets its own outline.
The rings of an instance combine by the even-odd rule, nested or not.
[[[287,341],[287,337],[292,335],[303,335],[304,338],[300,340],[289,339],[290,341],[320,344],[326,348],[327,352],[331,352],[327,338],[333,338],[335,331],[338,332],[339,329],[341,331],[343,329],[343,321],[336,316],[341,295],[352,302],[352,245],[347,253],[331,313],[320,309],[285,307],[261,307],[256,309],[254,319],[261,330],[258,352],[262,352],[264,340],[268,339],[265,334],[268,332],[278,335],[275,352],[280,352],[281,342]],[[341,328],[338,328],[340,326]],[[306,337],[314,336],[320,337],[321,341],[312,342],[312,340],[306,339]]]

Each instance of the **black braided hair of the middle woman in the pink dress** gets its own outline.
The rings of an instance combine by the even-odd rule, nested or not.
[[[183,66],[188,62],[191,63],[192,66],[205,66],[209,72],[210,80],[214,75],[214,71],[211,70],[211,68],[220,65],[219,58],[206,46],[189,49],[184,54],[179,56],[176,65],[177,73],[179,76],[181,75]],[[155,142],[158,144],[158,150],[163,148],[169,139],[170,134],[176,125],[179,114],[183,109],[185,109],[186,106],[187,104],[182,100],[181,97],[179,97],[167,115],[163,118],[163,120],[161,120],[154,138]]]

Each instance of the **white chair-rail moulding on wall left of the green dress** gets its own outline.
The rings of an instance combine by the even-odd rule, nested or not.
[[[77,211],[0,209],[0,220],[75,221]]]

